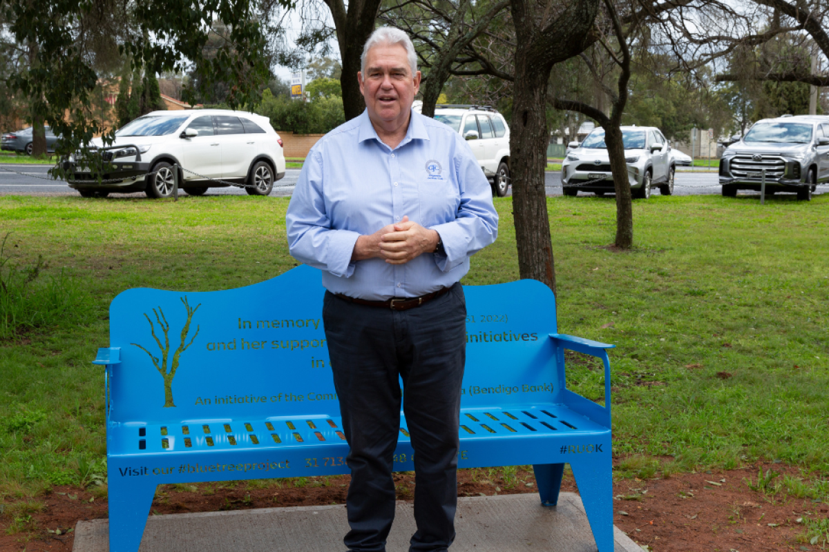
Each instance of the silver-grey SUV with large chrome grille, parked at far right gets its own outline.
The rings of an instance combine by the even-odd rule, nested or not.
[[[760,190],[797,192],[809,201],[818,182],[829,180],[829,117],[791,115],[755,122],[720,159],[722,193]]]

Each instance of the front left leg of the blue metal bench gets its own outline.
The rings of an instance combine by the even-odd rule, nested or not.
[[[146,479],[109,472],[109,552],[138,552],[156,490]]]

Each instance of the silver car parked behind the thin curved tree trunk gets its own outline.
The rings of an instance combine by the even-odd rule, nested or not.
[[[662,195],[673,194],[675,163],[671,146],[655,127],[622,127],[625,161],[633,197],[651,197],[652,186]],[[596,195],[613,193],[610,157],[604,143],[604,128],[596,128],[574,147],[561,164],[561,183],[565,195],[579,191]]]

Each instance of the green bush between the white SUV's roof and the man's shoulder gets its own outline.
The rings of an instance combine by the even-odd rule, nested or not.
[[[346,122],[342,98],[334,95],[319,96],[313,101],[303,102],[284,96],[274,97],[266,89],[255,113],[269,118],[271,126],[278,132],[291,131],[297,134],[329,132]]]

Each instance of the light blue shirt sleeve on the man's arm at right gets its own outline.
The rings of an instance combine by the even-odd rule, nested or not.
[[[462,265],[498,237],[498,214],[487,177],[466,143],[458,150],[454,163],[461,198],[457,218],[429,227],[440,234],[444,244],[445,253],[434,255],[434,262],[444,272]]]

